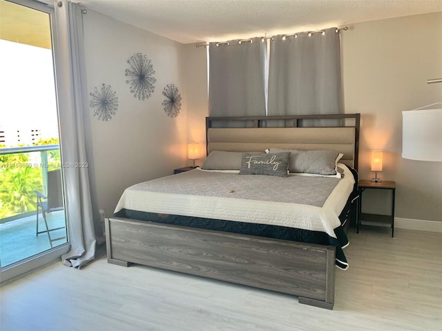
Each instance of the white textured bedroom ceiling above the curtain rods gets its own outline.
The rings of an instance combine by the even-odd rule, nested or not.
[[[75,0],[77,1],[77,0]],[[225,41],[442,12],[442,0],[81,0],[180,43]]]

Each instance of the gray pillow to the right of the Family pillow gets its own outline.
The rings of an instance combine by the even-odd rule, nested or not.
[[[291,152],[289,171],[307,174],[336,174],[336,162],[342,154],[334,150],[284,150],[270,148],[270,153]]]

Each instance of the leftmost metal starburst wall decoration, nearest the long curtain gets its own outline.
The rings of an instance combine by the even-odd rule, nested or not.
[[[95,92],[90,93],[90,95],[92,96],[90,107],[96,108],[94,116],[97,116],[99,121],[111,120],[118,109],[118,98],[111,86],[103,84],[101,90],[95,87]]]

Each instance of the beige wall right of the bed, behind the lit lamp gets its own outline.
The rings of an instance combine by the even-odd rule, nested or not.
[[[442,83],[426,83],[442,77],[442,12],[354,24],[341,40],[345,112],[362,114],[360,177],[372,178],[370,151],[383,150],[396,217],[442,221],[442,162],[401,157],[402,111],[442,101]],[[366,210],[388,212],[387,192],[364,194]]]

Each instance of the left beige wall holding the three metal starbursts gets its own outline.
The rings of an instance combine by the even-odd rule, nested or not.
[[[89,110],[99,208],[113,214],[129,185],[166,176],[187,163],[187,110],[182,79],[183,45],[88,10],[84,16],[88,92],[102,83],[117,92],[119,106],[108,122]],[[152,60],[155,92],[140,101],[124,75],[128,59],[142,52]],[[178,117],[164,112],[162,91],[174,83],[183,102]]]

